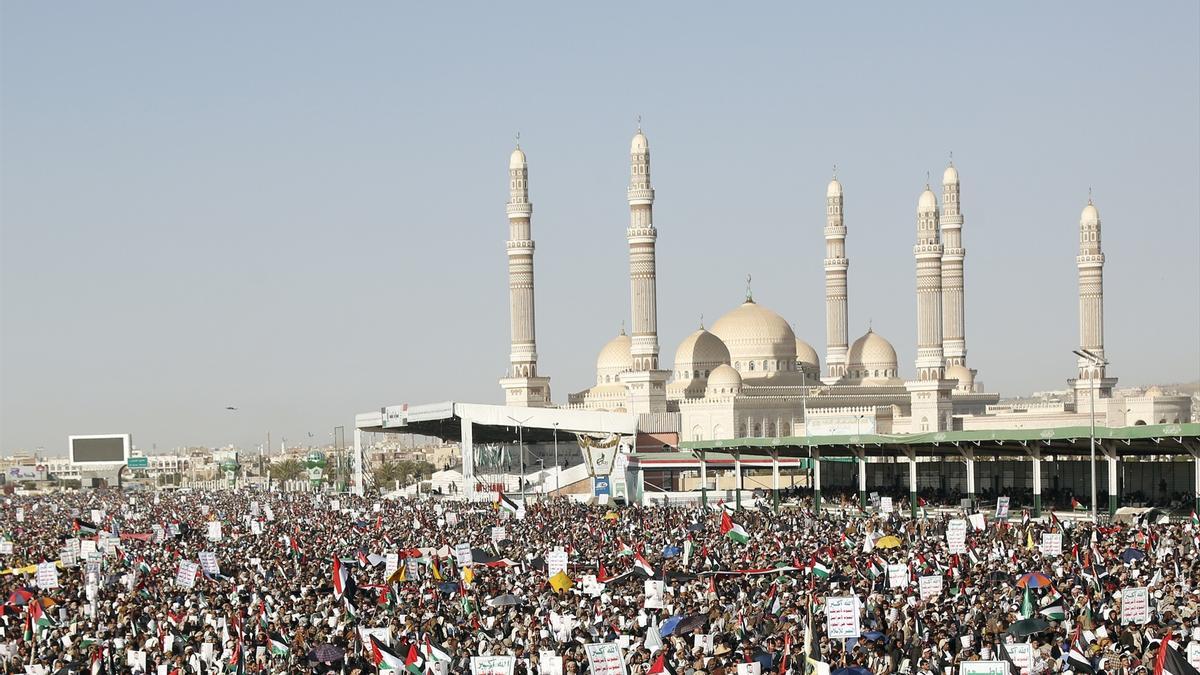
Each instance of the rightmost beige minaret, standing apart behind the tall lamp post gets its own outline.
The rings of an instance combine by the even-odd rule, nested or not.
[[[1103,412],[1102,399],[1112,398],[1116,378],[1109,378],[1104,371],[1104,251],[1100,249],[1100,213],[1092,203],[1079,216],[1079,256],[1075,258],[1079,269],[1079,346],[1099,357],[1099,364],[1080,357],[1076,360],[1079,377],[1075,380],[1075,410],[1091,412],[1094,388],[1097,412]]]

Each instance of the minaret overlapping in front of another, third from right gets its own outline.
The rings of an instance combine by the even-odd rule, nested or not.
[[[917,202],[917,380],[906,384],[912,400],[912,428],[944,431],[953,428],[950,390],[942,352],[942,241],[937,197],[925,185]]]

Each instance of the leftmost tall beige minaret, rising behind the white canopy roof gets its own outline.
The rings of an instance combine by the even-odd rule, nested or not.
[[[550,405],[550,378],[538,376],[538,340],[534,330],[533,238],[529,217],[529,165],[521,145],[509,157],[509,372],[500,380],[510,406]]]

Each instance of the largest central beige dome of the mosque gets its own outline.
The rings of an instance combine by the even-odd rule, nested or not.
[[[744,377],[773,377],[780,371],[796,370],[792,327],[754,300],[746,300],[716,319],[713,334],[725,342],[734,370]]]

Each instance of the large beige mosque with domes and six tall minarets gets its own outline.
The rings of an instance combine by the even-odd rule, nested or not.
[[[500,380],[505,404],[556,406],[550,378],[538,372],[534,329],[533,205],[526,154],[509,161],[508,203],[511,352]],[[680,441],[800,435],[919,434],[947,430],[1180,423],[1190,419],[1190,398],[1148,390],[1115,393],[1105,371],[1104,253],[1100,216],[1088,199],[1080,217],[1078,377],[1066,402],[1000,405],[983,392],[967,365],[966,249],[953,162],[942,175],[942,199],[926,185],[917,199],[913,258],[917,268],[917,358],[901,374],[895,348],[868,330],[853,342],[847,331],[846,223],[836,177],[826,192],[826,357],[798,339],[776,312],[746,298],[710,328],[688,335],[665,368],[659,362],[654,189],[649,142],[641,129],[630,148],[631,331],[620,331],[596,358],[595,384],[570,394],[568,408],[653,414]],[[665,424],[664,424],[665,422]]]

